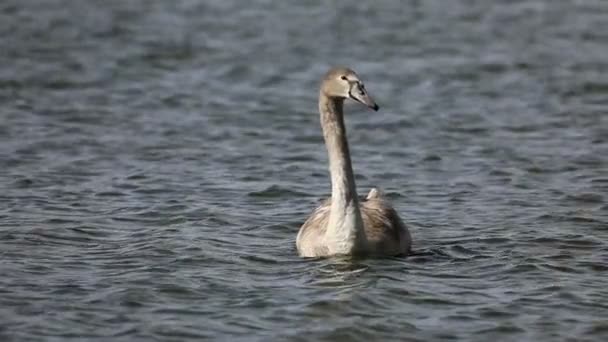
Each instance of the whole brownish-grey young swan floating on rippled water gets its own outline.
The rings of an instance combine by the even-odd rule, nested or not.
[[[302,257],[331,255],[406,255],[412,239],[397,212],[376,189],[359,201],[346,141],[344,100],[350,98],[377,111],[357,74],[331,69],[319,92],[321,127],[331,173],[331,198],[315,209],[296,238]]]

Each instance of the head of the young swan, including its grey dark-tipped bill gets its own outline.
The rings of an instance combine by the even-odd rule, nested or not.
[[[333,68],[325,74],[321,91],[328,97],[351,99],[373,110],[380,107],[365,89],[357,73],[348,68]]]

